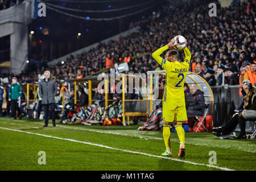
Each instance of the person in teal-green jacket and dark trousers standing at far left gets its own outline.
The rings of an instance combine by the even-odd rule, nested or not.
[[[13,77],[11,79],[12,84],[9,90],[9,101],[11,102],[11,116],[16,119],[16,111],[18,111],[19,119],[22,119],[22,115],[20,113],[20,97],[22,96],[22,88],[20,84],[17,82],[17,78]],[[19,102],[19,104],[18,104]]]

